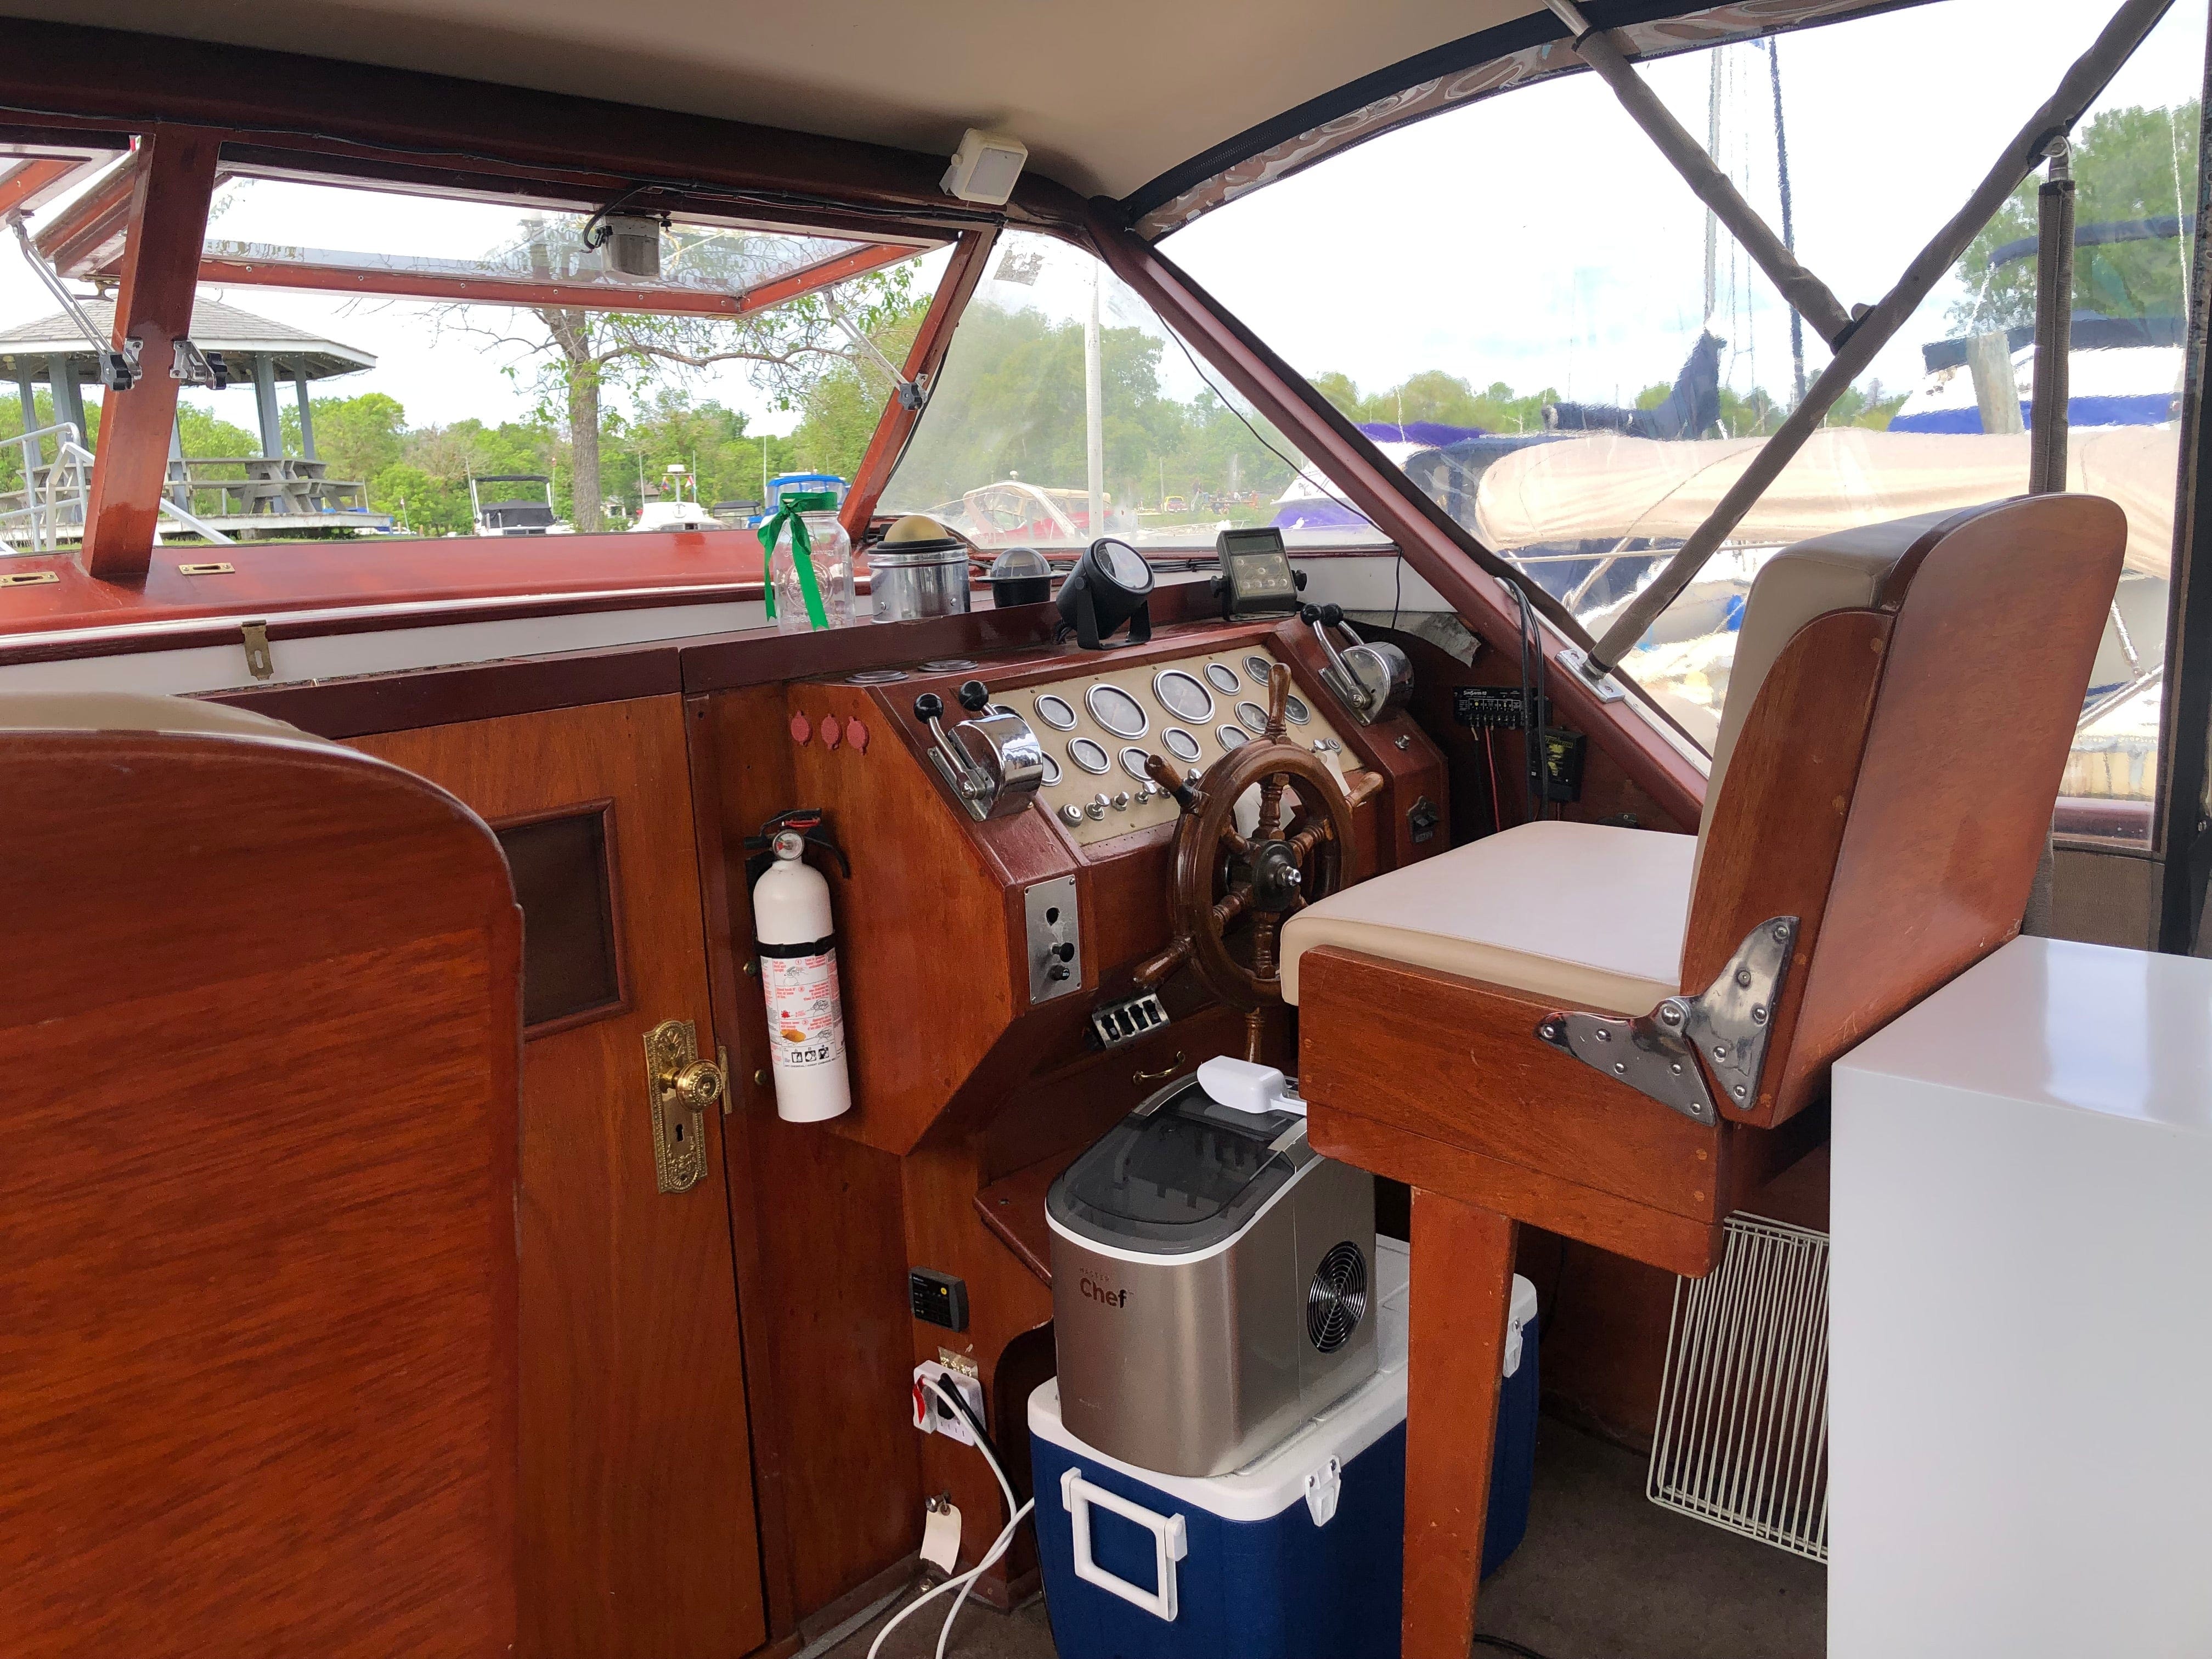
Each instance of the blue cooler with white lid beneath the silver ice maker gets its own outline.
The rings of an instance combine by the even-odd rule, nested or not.
[[[1376,1374],[1228,1475],[1093,1451],[1029,1396],[1037,1555],[1060,1659],[1398,1659],[1407,1248],[1376,1241]],[[1528,1526],[1535,1287],[1513,1281],[1484,1575]]]

